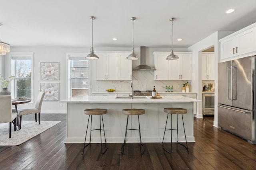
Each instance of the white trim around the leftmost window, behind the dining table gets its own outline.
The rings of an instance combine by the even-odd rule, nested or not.
[[[14,75],[14,61],[12,58],[19,58],[19,57],[29,57],[31,59],[31,103],[34,103],[34,53],[33,52],[11,52],[9,53],[9,71],[8,75]],[[14,82],[10,83],[11,85],[11,95],[14,98]]]

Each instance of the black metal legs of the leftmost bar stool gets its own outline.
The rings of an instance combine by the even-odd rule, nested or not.
[[[88,123],[87,123],[87,128],[86,128],[86,133],[85,133],[85,139],[84,139],[84,148],[83,148],[83,150],[82,150],[82,154],[84,154],[84,149],[85,149],[85,147],[87,147],[87,146],[91,143],[92,131],[95,131],[95,130],[100,130],[100,148],[101,148],[101,153],[104,154],[104,153],[106,152],[106,150],[108,149],[108,144],[106,143],[106,135],[105,135],[103,117],[102,117],[102,115],[100,115],[100,116],[101,116],[101,117],[100,117],[100,129],[92,129],[92,115],[89,115]],[[91,117],[90,142],[89,142],[88,144],[85,144],[90,117]],[[102,119],[103,129],[101,129],[101,119]],[[105,139],[105,145],[106,145],[106,149],[105,149],[104,151],[102,150],[102,136],[101,136],[101,131],[104,132],[104,139]]]

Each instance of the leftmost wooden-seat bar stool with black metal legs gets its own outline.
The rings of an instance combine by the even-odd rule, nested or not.
[[[84,110],[84,114],[89,115],[89,118],[88,118],[86,133],[85,133],[84,148],[83,148],[83,150],[82,150],[82,154],[84,154],[84,149],[85,149],[85,147],[87,147],[87,146],[91,143],[92,131],[95,131],[95,130],[100,130],[100,147],[101,147],[101,153],[104,154],[104,153],[106,152],[106,150],[108,149],[108,145],[107,145],[107,143],[106,143],[106,136],[105,136],[105,129],[104,129],[103,117],[102,117],[102,115],[106,114],[107,112],[108,112],[107,109],[85,109],[85,110]],[[92,115],[100,115],[100,116],[101,116],[101,117],[100,117],[100,129],[92,129]],[[85,145],[86,135],[87,135],[87,130],[88,130],[88,125],[89,125],[90,117],[91,117],[90,142],[89,142],[87,145]],[[102,120],[103,129],[101,129],[101,120]],[[106,144],[106,149],[105,149],[104,151],[102,150],[101,131],[104,131],[104,138],[105,138],[105,144]]]

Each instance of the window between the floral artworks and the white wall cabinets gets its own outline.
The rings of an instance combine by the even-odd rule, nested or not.
[[[89,65],[85,53],[68,53],[68,97],[88,96],[89,94]]]

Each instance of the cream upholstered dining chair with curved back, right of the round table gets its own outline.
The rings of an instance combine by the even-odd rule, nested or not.
[[[36,99],[36,106],[34,108],[24,108],[24,109],[18,109],[18,115],[20,116],[20,129],[21,129],[21,119],[23,115],[29,115],[29,114],[35,114],[35,120],[36,119],[36,113],[38,113],[38,122],[40,125],[40,113],[41,113],[41,106],[44,99],[45,92],[40,92],[38,94],[38,97]]]

